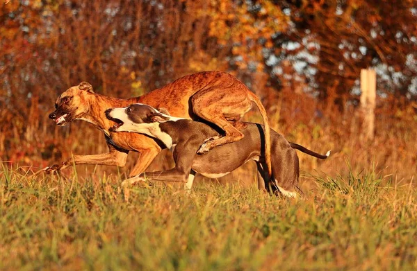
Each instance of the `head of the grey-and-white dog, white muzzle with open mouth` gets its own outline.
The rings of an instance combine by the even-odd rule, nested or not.
[[[116,107],[106,110],[106,117],[116,124],[110,128],[110,132],[141,132],[156,128],[158,123],[164,123],[173,119],[165,110],[156,110],[149,105],[136,103],[128,107]]]

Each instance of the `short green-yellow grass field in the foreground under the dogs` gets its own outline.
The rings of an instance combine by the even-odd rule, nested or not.
[[[1,270],[416,270],[416,191],[369,171],[302,200],[0,173]]]

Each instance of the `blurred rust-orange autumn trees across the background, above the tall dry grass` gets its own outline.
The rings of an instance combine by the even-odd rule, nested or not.
[[[357,100],[360,69],[373,67],[382,97],[416,100],[416,19],[413,0],[1,3],[0,156],[26,151],[22,142],[43,148],[56,96],[81,80],[126,98],[220,69],[265,105],[279,91],[309,92],[343,110]]]

